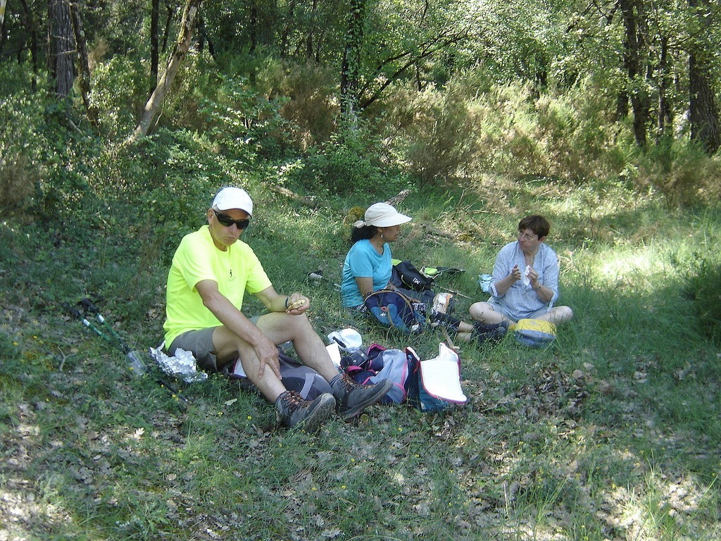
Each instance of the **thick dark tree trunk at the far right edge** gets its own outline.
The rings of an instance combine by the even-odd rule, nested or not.
[[[721,145],[719,111],[711,73],[712,45],[704,38],[711,25],[709,0],[689,0],[699,22],[699,36],[689,48],[689,122],[691,140],[698,141],[708,154],[715,154]]]

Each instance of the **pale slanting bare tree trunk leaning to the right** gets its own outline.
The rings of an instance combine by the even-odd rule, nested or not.
[[[158,86],[155,87],[153,94],[145,105],[143,116],[138,126],[136,126],[135,131],[128,137],[127,141],[125,141],[126,144],[133,144],[138,141],[139,138],[145,137],[148,134],[148,130],[158,108],[172,85],[180,63],[183,58],[185,58],[188,48],[190,48],[190,40],[193,38],[193,22],[195,22],[195,14],[198,13],[198,7],[200,7],[201,2],[202,0],[187,0],[180,22],[180,32],[178,33],[173,52],[168,58],[167,67],[158,81]]]

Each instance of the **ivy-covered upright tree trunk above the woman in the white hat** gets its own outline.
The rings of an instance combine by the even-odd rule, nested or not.
[[[343,63],[340,68],[341,119],[355,126],[358,120],[358,80],[361,76],[363,23],[366,0],[350,0]]]

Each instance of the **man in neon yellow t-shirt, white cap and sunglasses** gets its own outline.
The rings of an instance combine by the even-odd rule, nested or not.
[[[168,273],[165,346],[193,352],[206,369],[220,370],[239,359],[247,377],[275,403],[284,426],[318,428],[337,409],[361,413],[392,387],[384,381],[356,384],[341,374],[305,315],[308,297],[278,294],[252,248],[240,237],[250,224],[253,203],[241,188],[223,188],[205,213],[208,225],[183,237]],[[245,292],[268,313],[255,320],[242,312]],[[332,389],[304,400],[283,385],[276,345],[291,341],[301,361]]]

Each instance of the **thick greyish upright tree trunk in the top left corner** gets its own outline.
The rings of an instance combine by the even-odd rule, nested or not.
[[[68,0],[48,0],[48,72],[60,97],[67,97],[73,88],[74,56]]]

